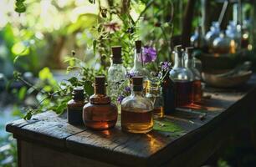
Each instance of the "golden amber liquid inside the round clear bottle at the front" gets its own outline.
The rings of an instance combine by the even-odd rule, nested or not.
[[[153,129],[153,111],[122,109],[121,126],[125,132],[145,134]]]

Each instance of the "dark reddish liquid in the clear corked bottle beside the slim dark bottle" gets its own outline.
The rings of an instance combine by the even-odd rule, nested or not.
[[[193,82],[175,82],[176,104],[177,107],[192,104],[192,84]]]

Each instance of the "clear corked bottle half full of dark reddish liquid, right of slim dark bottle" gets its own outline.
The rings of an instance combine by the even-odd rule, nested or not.
[[[175,47],[175,63],[169,77],[174,83],[176,106],[182,107],[192,104],[193,74],[183,66],[183,49],[181,45]]]

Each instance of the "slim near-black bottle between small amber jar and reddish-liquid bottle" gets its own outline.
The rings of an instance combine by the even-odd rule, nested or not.
[[[174,83],[172,79],[169,77],[168,73],[170,71],[162,71],[162,97],[163,97],[163,109],[164,114],[172,114],[176,108],[176,99],[175,99],[175,90]]]

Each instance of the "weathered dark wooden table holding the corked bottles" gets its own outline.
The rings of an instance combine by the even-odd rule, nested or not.
[[[207,88],[199,109],[178,109],[148,134],[92,131],[46,112],[7,124],[18,164],[30,166],[199,166],[256,111],[256,76],[240,89]]]

